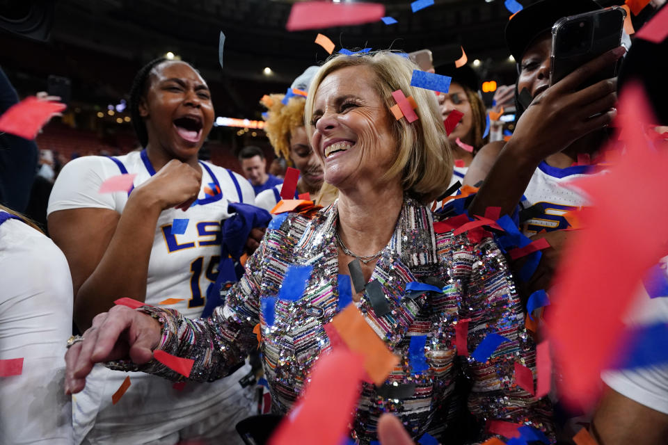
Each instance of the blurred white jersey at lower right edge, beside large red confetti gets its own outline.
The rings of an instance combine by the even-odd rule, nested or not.
[[[668,257],[663,258],[660,264],[668,280]],[[627,325],[668,323],[668,296],[650,298],[644,288],[640,289],[625,322]],[[601,377],[619,394],[668,414],[668,365],[606,371]]]

